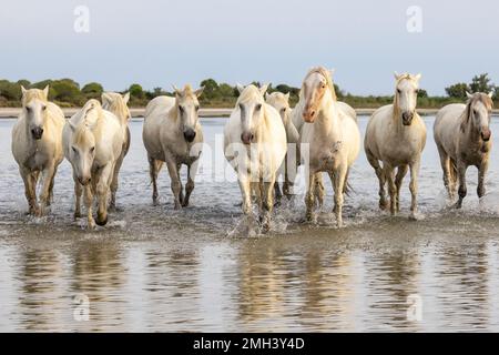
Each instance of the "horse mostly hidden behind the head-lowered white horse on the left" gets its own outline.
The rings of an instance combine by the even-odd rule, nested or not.
[[[113,113],[121,123],[121,129],[123,132],[123,146],[121,150],[120,159],[116,161],[116,165],[114,166],[113,181],[111,183],[111,203],[110,209],[116,207],[116,191],[119,184],[119,175],[121,165],[123,164],[123,160],[129,153],[130,150],[130,128],[129,122],[131,119],[130,110],[128,103],[130,101],[130,93],[125,93],[121,95],[116,92],[104,92],[102,94],[102,108],[104,110]]]

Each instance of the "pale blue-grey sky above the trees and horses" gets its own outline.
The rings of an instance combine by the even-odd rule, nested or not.
[[[492,0],[1,2],[0,78],[8,80],[71,78],[120,91],[206,78],[299,87],[309,68],[324,65],[361,95],[391,94],[394,71],[420,72],[430,94],[482,72],[499,84]],[[79,6],[89,10],[89,32],[74,30]],[[407,14],[413,6],[421,21]],[[408,21],[420,31],[408,31]]]

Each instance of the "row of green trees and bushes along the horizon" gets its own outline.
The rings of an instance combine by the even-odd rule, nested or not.
[[[259,85],[259,82],[254,82]],[[19,80],[11,82],[8,80],[0,80],[0,106],[20,106],[21,105],[21,85],[24,88],[43,89],[50,85],[49,99],[62,108],[81,106],[89,99],[99,99],[104,91],[102,84],[91,82],[80,87],[78,82],[72,79],[60,80],[43,80],[31,83],[28,80]],[[208,108],[232,108],[238,97],[237,89],[227,83],[217,83],[214,79],[206,79],[200,83],[204,87],[201,103]],[[499,102],[499,87],[496,87],[487,73],[476,75],[471,82],[459,82],[445,88],[446,97],[429,97],[426,90],[419,91],[419,108],[435,109],[440,108],[451,102],[462,102],[466,100],[466,92],[490,92],[495,91],[493,100]],[[377,108],[393,102],[393,95],[385,97],[358,97],[344,92],[335,84],[335,90],[338,99],[347,102],[355,108]],[[147,102],[159,95],[173,95],[171,91],[162,88],[154,88],[152,91],[144,90],[140,84],[134,83],[123,92],[130,92],[130,105],[134,108],[145,106]],[[299,88],[289,87],[287,84],[271,84],[268,92],[279,91],[283,93],[289,92],[291,104],[298,102]]]

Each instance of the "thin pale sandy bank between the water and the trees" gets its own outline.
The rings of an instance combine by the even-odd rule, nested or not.
[[[19,115],[19,108],[0,108],[0,119],[17,118]],[[72,116],[79,109],[62,109],[65,116]],[[200,116],[202,118],[228,118],[233,109],[201,109]],[[376,109],[356,109],[358,115],[373,114]],[[133,118],[143,118],[145,109],[130,109]],[[418,109],[421,115],[432,115],[437,113],[437,109]],[[499,110],[493,110],[495,114],[499,114]]]

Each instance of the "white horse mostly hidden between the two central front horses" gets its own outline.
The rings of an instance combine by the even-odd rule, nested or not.
[[[265,101],[272,105],[281,115],[283,120],[284,128],[286,130],[287,140],[287,154],[284,160],[284,166],[281,166],[281,171],[284,170],[284,183],[283,183],[283,194],[287,197],[293,195],[292,186],[295,181],[296,174],[296,148],[299,142],[299,133],[292,122],[291,114],[293,110],[289,108],[289,93],[273,92],[265,93]],[[276,199],[281,199],[279,183],[275,183],[275,194]]]

